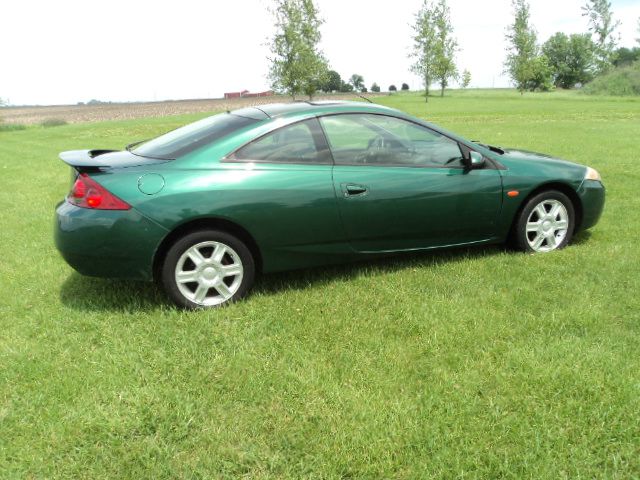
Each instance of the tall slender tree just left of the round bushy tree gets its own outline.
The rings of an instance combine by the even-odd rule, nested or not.
[[[526,0],[511,0],[515,18],[507,29],[507,60],[505,70],[521,94],[527,90],[527,82],[534,76],[538,56],[537,35],[530,24],[529,4]]]

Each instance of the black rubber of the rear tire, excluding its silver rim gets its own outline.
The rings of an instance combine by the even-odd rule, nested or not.
[[[182,254],[194,245],[202,242],[220,242],[231,247],[240,256],[242,267],[244,269],[242,283],[238,291],[224,303],[215,307],[222,307],[230,303],[236,302],[245,297],[255,280],[255,261],[253,255],[247,246],[237,237],[220,230],[197,230],[186,234],[178,239],[167,251],[161,270],[161,283],[167,296],[179,307],[188,309],[211,308],[198,305],[186,298],[180,290],[175,280],[175,269],[178,260]],[[213,307],[213,308],[215,308]]]

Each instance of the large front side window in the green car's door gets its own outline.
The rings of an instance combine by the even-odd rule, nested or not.
[[[320,119],[336,165],[463,167],[458,142],[413,122],[375,114]]]

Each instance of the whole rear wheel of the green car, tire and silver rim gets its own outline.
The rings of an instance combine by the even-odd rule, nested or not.
[[[236,302],[253,286],[255,262],[238,238],[198,230],[176,241],[161,271],[167,296],[179,307],[212,308]]]

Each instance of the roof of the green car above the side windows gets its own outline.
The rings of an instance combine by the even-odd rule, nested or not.
[[[346,102],[346,101],[305,101],[291,103],[270,103],[266,105],[258,105],[255,107],[234,110],[231,113],[256,120],[274,119],[279,117],[290,117],[308,114],[327,114],[327,113],[396,113],[402,112],[378,105],[375,103],[364,102]]]

